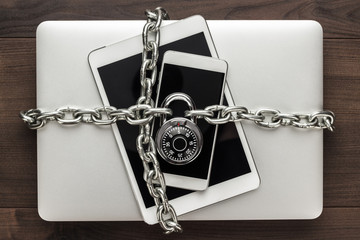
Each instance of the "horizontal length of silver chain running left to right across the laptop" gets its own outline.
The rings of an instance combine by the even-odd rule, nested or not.
[[[170,108],[154,108],[146,104],[133,105],[127,109],[117,109],[115,107],[77,109],[67,107],[51,112],[43,112],[39,109],[20,112],[20,118],[30,129],[42,128],[50,121],[56,121],[62,125],[76,125],[79,123],[110,125],[124,120],[130,125],[143,126],[149,124],[154,117],[165,115],[171,116],[172,110]],[[206,107],[205,110],[185,111],[185,116],[204,119],[213,125],[245,120],[254,122],[264,128],[292,126],[296,128],[328,129],[330,131],[335,129],[335,114],[331,111],[292,114],[281,113],[275,109],[260,109],[253,112],[242,106],[214,105]]]

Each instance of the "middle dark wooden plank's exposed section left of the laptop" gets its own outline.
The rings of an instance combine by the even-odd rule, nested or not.
[[[0,206],[36,207],[36,132],[20,121],[34,108],[35,40],[0,39]]]

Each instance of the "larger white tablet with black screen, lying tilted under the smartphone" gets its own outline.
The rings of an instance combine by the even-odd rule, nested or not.
[[[105,106],[128,108],[135,104],[140,94],[142,48],[142,38],[137,36],[89,54],[92,73]],[[159,66],[167,50],[217,57],[208,27],[201,16],[162,27]],[[233,105],[227,86],[225,97],[227,102],[224,101],[224,104]],[[113,125],[113,131],[144,221],[155,224],[156,207],[143,179],[143,166],[135,145],[138,127],[120,121]],[[241,124],[231,123],[218,128],[209,187],[197,192],[167,187],[167,196],[177,214],[181,215],[254,190],[259,183]]]

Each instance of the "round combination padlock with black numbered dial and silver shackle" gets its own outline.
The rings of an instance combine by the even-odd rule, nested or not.
[[[161,107],[167,108],[173,101],[184,101],[190,110],[195,109],[194,101],[184,93],[173,93],[165,98]],[[160,119],[161,127],[156,134],[156,147],[160,156],[175,165],[188,164],[199,156],[203,146],[203,136],[196,125],[196,118],[191,120],[175,117],[170,120]]]

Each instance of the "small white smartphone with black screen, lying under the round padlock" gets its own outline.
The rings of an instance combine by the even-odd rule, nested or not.
[[[191,105],[194,105],[192,107],[195,109],[222,104],[226,73],[227,63],[224,60],[167,51],[162,61],[156,105],[162,107],[164,100],[174,93],[189,96],[193,102]],[[181,121],[185,118],[184,111],[189,110],[185,101],[173,101],[169,107],[173,112],[171,118],[180,121],[167,119],[164,122],[157,119],[153,131],[154,136],[156,134],[157,149],[161,156],[160,167],[166,185],[205,190],[209,185],[218,127],[208,124],[203,119],[187,118]],[[196,126],[203,137],[197,136],[192,129],[196,127],[186,124],[188,121],[196,121]],[[162,125],[167,128],[165,132]],[[167,127],[168,125],[174,126]],[[195,134],[192,134],[193,132]],[[200,153],[192,156],[197,153],[197,149]]]

